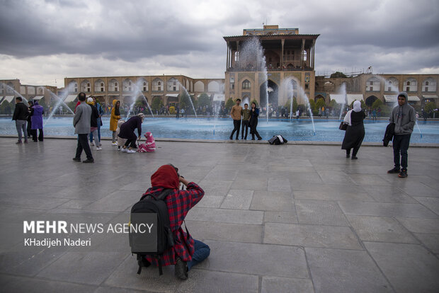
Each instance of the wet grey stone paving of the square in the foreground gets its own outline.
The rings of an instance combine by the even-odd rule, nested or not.
[[[439,149],[409,149],[409,177],[386,173],[392,149],[158,142],[94,164],[76,141],[0,139],[1,292],[439,292]],[[23,246],[23,219],[127,222],[157,167],[174,163],[205,189],[188,214],[210,257],[177,280],[137,275],[124,234],[89,248]]]

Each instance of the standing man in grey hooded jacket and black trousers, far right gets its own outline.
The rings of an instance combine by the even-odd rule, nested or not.
[[[394,168],[387,173],[398,173],[399,178],[407,177],[407,161],[411,132],[416,122],[416,112],[409,105],[409,96],[405,91],[398,95],[398,105],[393,108],[390,122],[394,122],[393,160]],[[400,163],[401,162],[401,163]]]

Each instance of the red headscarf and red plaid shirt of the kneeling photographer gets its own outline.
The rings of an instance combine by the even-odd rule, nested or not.
[[[178,190],[180,183],[176,170],[170,165],[161,166],[156,173],[151,176],[152,188],[149,188],[144,195],[159,195],[165,188],[173,189],[172,193],[166,197],[168,206],[169,221],[174,235],[175,245],[165,251],[161,258],[161,265],[175,265],[176,258],[183,261],[192,260],[194,251],[193,239],[190,234],[186,234],[181,224],[188,214],[204,196],[204,190],[193,182],[188,184],[186,190]],[[149,263],[158,265],[156,258],[149,255],[145,257]]]

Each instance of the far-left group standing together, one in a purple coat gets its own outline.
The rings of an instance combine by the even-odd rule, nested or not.
[[[16,144],[28,143],[28,138],[32,136],[33,142],[42,142],[42,115],[44,110],[42,106],[38,105],[38,100],[28,101],[28,106],[23,103],[23,98],[16,98],[16,108],[13,111],[12,120],[16,122],[16,129],[18,133],[18,142]],[[39,135],[37,138],[37,130]]]

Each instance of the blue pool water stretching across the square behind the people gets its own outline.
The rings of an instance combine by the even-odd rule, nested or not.
[[[74,136],[72,117],[52,117],[44,127],[45,135]],[[263,139],[270,139],[273,135],[282,134],[288,140],[342,142],[344,131],[338,130],[338,120],[315,120],[316,134],[312,130],[312,122],[301,120],[260,120],[258,132]],[[365,120],[365,142],[382,142],[387,121]],[[101,135],[111,137],[109,117],[103,118]],[[419,127],[419,129],[418,129]],[[418,122],[411,136],[411,142],[424,144],[439,144],[439,122]],[[215,134],[214,134],[215,130]],[[233,130],[230,118],[145,118],[142,124],[142,133],[152,132],[155,138],[183,138],[183,139],[229,139]],[[419,132],[421,130],[421,134]],[[137,133],[137,132],[136,132]],[[15,122],[11,118],[0,118],[0,134],[16,134]],[[241,138],[241,137],[239,137]],[[251,139],[251,135],[247,139]]]

